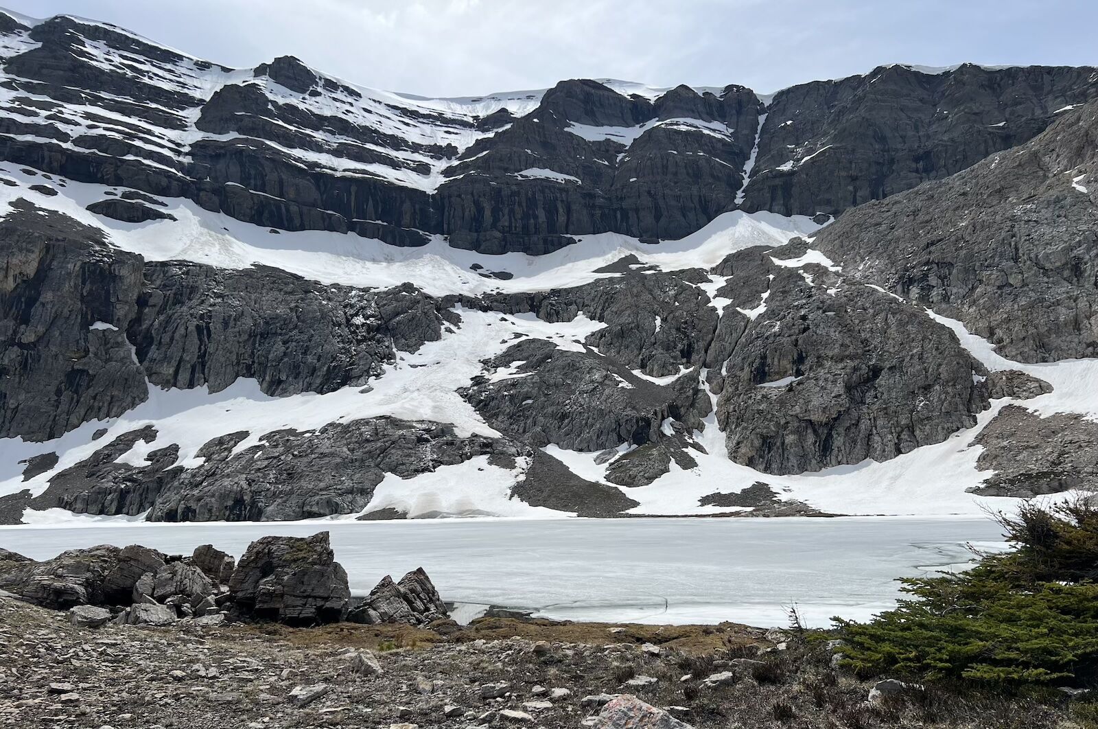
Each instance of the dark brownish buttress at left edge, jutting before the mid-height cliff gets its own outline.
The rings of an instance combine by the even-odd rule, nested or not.
[[[136,311],[139,257],[18,200],[0,221],[0,437],[55,438],[145,400],[123,334]]]

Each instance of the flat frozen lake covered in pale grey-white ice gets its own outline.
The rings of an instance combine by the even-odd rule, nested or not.
[[[327,529],[351,590],[423,567],[446,601],[536,608],[574,620],[811,625],[864,619],[894,580],[963,564],[965,545],[1001,545],[989,519],[452,519],[0,527],[0,547],[35,559],[91,545],[182,553],[213,543],[239,557],[265,535]]]

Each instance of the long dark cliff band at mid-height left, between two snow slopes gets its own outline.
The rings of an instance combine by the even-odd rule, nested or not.
[[[365,384],[396,350],[441,336],[437,302],[410,284],[367,292],[268,268],[144,263],[23,201],[0,237],[3,437],[120,415],[147,397],[146,378],[212,392],[255,378],[272,395]]]

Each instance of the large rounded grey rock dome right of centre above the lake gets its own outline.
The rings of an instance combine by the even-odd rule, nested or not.
[[[729,262],[771,256],[786,259],[746,250]],[[917,309],[856,283],[836,289],[821,267],[811,283],[763,270],[765,311],[735,339],[717,401],[732,460],[777,474],[887,460],[972,427],[987,407],[983,366]]]

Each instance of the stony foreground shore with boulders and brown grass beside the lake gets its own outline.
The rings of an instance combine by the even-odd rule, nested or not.
[[[0,552],[0,726],[1064,726],[1047,703],[854,676],[839,641],[799,630],[461,626],[423,570],[356,601],[332,557],[327,532],[265,537],[238,563],[212,546]]]

